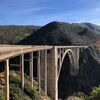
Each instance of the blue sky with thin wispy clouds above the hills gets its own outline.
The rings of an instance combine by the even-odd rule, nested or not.
[[[0,25],[45,25],[52,21],[100,25],[100,0],[0,0]]]

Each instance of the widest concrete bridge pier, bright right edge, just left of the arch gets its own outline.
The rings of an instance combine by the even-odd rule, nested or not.
[[[53,49],[50,50],[48,54],[48,59],[47,59],[47,89],[48,89],[48,95],[53,99],[53,100],[58,100],[58,61],[57,61],[57,56],[58,56],[58,51],[57,48],[54,47]]]

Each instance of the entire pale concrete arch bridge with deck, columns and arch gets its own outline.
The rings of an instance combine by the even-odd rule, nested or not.
[[[24,88],[24,55],[29,53],[28,59],[30,65],[30,78],[33,86],[33,53],[37,52],[37,81],[38,88],[42,88],[53,100],[58,100],[58,79],[62,63],[66,53],[68,53],[71,66],[70,74],[76,75],[79,69],[79,53],[81,49],[88,46],[36,46],[36,45],[0,45],[0,62],[4,61],[4,79],[5,79],[5,100],[9,100],[9,69],[11,58],[19,56],[20,64],[12,64],[20,67],[20,78],[22,89]],[[1,78],[1,77],[0,77]],[[41,80],[41,79],[44,79]]]

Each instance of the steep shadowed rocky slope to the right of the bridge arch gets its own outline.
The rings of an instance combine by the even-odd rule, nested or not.
[[[81,52],[77,84],[78,91],[86,94],[100,85],[100,47],[89,47]]]

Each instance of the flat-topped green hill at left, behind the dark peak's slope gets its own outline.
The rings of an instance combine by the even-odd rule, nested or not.
[[[15,44],[39,28],[39,26],[0,26],[0,44]]]

